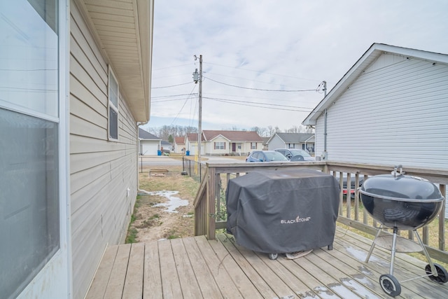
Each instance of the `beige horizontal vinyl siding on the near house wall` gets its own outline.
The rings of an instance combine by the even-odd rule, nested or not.
[[[70,43],[73,298],[83,298],[106,245],[125,239],[137,197],[137,125],[120,99],[118,141],[108,141],[108,66],[73,2]]]

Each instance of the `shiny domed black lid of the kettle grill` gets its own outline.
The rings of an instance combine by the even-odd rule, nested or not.
[[[440,202],[444,197],[433,183],[403,172],[380,174],[367,179],[360,188],[361,194],[402,202]]]

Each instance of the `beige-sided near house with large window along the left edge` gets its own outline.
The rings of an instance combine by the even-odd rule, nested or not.
[[[1,298],[84,298],[106,246],[124,242],[153,8],[0,2]]]

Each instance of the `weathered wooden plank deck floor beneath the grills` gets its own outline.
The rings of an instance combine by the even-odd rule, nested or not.
[[[110,246],[87,298],[390,298],[378,282],[389,272],[390,251],[376,246],[365,263],[370,244],[338,227],[333,250],[295,260],[269,260],[225,234]],[[447,298],[448,284],[405,281],[425,274],[425,265],[397,253],[396,298]]]

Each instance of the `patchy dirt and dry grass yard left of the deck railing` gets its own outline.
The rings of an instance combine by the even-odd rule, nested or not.
[[[139,173],[140,189],[150,194],[140,192],[137,197],[127,242],[149,242],[194,235],[193,201],[199,182],[188,175],[182,175],[182,167],[163,168],[168,169],[164,176],[149,176],[150,168]],[[177,193],[161,194],[158,191]],[[170,203],[167,195],[178,197],[181,204],[179,201]],[[173,211],[168,211],[170,208]]]

